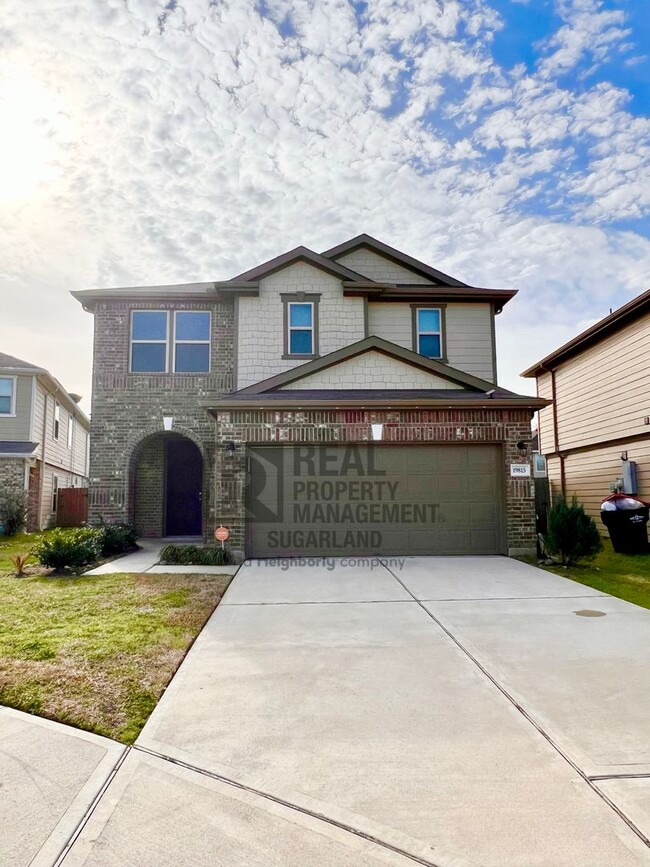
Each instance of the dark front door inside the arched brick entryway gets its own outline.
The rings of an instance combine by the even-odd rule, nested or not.
[[[191,440],[170,439],[165,448],[165,534],[201,535],[203,458]]]

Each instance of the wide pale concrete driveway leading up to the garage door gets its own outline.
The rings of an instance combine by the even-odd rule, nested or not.
[[[63,867],[650,865],[650,612],[499,557],[270,563]]]

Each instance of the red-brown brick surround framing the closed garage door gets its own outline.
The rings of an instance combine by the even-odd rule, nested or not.
[[[231,530],[231,548],[245,547],[246,444],[360,443],[370,424],[383,423],[387,443],[502,443],[507,545],[510,555],[535,551],[535,494],[531,479],[510,478],[520,463],[517,442],[530,441],[527,409],[508,410],[238,410],[220,412],[217,424],[217,523]],[[229,454],[224,447],[234,442]]]

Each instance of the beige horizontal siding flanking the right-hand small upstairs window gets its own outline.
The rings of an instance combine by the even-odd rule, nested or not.
[[[490,304],[447,304],[445,340],[450,367],[494,382]],[[368,334],[414,350],[413,311],[406,302],[368,304]]]

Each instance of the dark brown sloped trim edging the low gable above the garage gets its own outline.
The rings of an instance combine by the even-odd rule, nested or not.
[[[362,355],[364,352],[376,350],[390,358],[396,358],[398,361],[404,361],[412,367],[425,370],[428,373],[442,376],[450,382],[455,382],[458,385],[471,388],[475,391],[487,392],[492,388],[493,383],[486,379],[479,379],[477,376],[472,376],[464,371],[457,370],[454,367],[444,364],[441,361],[435,361],[431,358],[425,358],[423,355],[418,355],[410,349],[405,349],[403,346],[398,346],[396,343],[391,343],[384,340],[382,337],[366,337],[363,340],[358,340],[349,346],[342,349],[337,349],[327,355],[321,356],[318,359],[301,364],[299,367],[294,367],[284,373],[279,373],[276,376],[271,376],[269,379],[264,379],[261,382],[256,382],[254,385],[249,385],[246,388],[239,390],[239,394],[262,394],[265,391],[281,388],[283,385],[288,385],[291,382],[296,382],[299,379],[304,379],[306,376],[311,376],[313,373],[318,373],[321,370],[326,370],[335,364],[342,361],[347,361],[351,358],[356,358],[357,355]],[[292,356],[295,358],[296,356]]]

